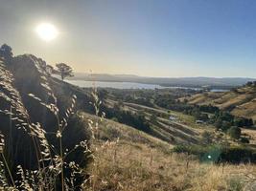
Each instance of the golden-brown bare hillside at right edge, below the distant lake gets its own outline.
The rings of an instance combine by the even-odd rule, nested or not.
[[[202,93],[186,97],[190,104],[213,105],[228,110],[234,116],[250,117],[256,120],[256,88],[243,86],[224,93]]]

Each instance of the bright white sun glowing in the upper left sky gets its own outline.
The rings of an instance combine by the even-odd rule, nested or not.
[[[51,23],[41,23],[35,28],[35,32],[44,41],[52,41],[58,36],[57,28]]]

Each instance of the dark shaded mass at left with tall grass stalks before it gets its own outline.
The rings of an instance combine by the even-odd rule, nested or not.
[[[91,96],[44,67],[30,54],[0,58],[0,190],[64,188],[75,170],[68,164],[88,164],[90,132],[76,111],[89,112]],[[65,187],[80,186],[79,176]]]

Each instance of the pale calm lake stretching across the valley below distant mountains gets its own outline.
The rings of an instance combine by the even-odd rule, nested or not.
[[[115,88],[115,89],[164,89],[164,88],[182,88],[182,89],[193,89],[201,90],[200,88],[185,88],[185,87],[163,87],[156,84],[143,84],[133,82],[107,82],[107,81],[84,81],[84,80],[65,80],[68,83],[79,86],[81,88]],[[214,89],[212,92],[225,92],[226,90]]]

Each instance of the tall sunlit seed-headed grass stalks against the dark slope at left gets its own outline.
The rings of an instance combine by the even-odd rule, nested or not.
[[[19,190],[58,190],[57,180],[60,176],[60,185],[62,191],[75,190],[79,185],[75,185],[74,180],[76,179],[76,174],[80,174],[82,176],[82,169],[80,165],[76,164],[75,162],[70,162],[67,164],[65,159],[78,148],[81,148],[83,153],[90,152],[85,139],[81,140],[73,149],[70,149],[69,152],[64,153],[62,135],[67,126],[68,118],[75,114],[74,110],[77,97],[72,96],[71,105],[67,108],[65,117],[60,118],[57,107],[57,97],[51,90],[51,87],[47,81],[47,76],[44,74],[40,66],[40,60],[36,59],[32,55],[28,56],[29,59],[35,63],[35,67],[40,74],[42,81],[41,87],[45,89],[48,96],[52,96],[54,103],[44,102],[33,94],[29,94],[29,96],[34,98],[38,104],[48,109],[57,118],[57,132],[52,133],[55,134],[56,138],[58,139],[59,148],[56,149],[55,146],[49,143],[48,139],[46,138],[48,133],[45,132],[41,124],[31,122],[30,116],[22,103],[21,96],[15,90],[15,88],[12,87],[12,73],[6,69],[5,65],[0,60],[0,88],[6,90],[5,92],[7,92],[7,94],[0,93],[0,98],[4,99],[4,101],[10,105],[10,110],[0,110],[0,114],[9,116],[10,126],[13,126],[14,124],[18,130],[24,131],[30,136],[30,138],[32,138],[35,147],[35,158],[37,161],[37,169],[34,171],[26,169],[23,170],[22,166],[17,166],[16,175],[20,177],[20,180],[14,180],[12,177],[12,169],[10,169],[7,159],[4,156],[4,147],[0,144],[1,156],[5,168],[7,169],[7,174],[12,181],[12,186],[10,186],[8,183],[4,183],[3,185],[0,184],[0,189],[2,189],[3,186],[5,189],[11,189],[14,187]],[[10,130],[12,131],[12,127]],[[12,138],[12,132],[9,133],[10,138]],[[12,144],[11,141],[12,139],[9,139],[9,146]],[[64,165],[69,166],[71,177],[66,177],[64,174]],[[0,181],[0,183],[2,182],[3,181]]]

